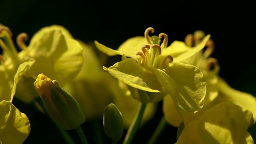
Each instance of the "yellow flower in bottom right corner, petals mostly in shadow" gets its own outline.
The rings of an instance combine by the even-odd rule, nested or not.
[[[185,126],[176,144],[254,144],[247,132],[252,113],[232,102],[206,110],[199,120]]]

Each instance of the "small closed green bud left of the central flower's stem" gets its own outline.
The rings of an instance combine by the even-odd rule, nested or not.
[[[114,141],[120,140],[124,131],[124,121],[116,105],[109,104],[104,109],[103,127],[105,134]]]

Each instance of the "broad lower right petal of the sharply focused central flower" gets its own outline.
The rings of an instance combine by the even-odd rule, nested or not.
[[[154,68],[154,74],[172,97],[177,109],[195,113],[202,108],[206,80],[198,68],[174,61],[164,71]]]

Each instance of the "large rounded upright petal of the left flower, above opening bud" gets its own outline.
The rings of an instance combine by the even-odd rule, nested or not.
[[[35,64],[28,72],[30,76],[44,73],[58,79],[61,85],[77,76],[83,58],[82,46],[64,28],[44,27],[32,37],[29,46],[18,54],[22,61],[34,58]]]

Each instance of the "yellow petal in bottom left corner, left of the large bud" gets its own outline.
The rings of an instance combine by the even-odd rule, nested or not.
[[[0,141],[22,144],[30,133],[30,122],[10,101],[0,102]]]

